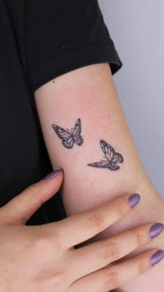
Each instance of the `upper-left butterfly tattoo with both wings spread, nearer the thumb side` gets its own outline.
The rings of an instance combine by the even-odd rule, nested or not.
[[[66,131],[63,128],[58,127],[56,124],[52,124],[52,127],[66,148],[72,148],[74,143],[79,146],[83,144],[83,138],[81,137],[81,119],[76,121],[74,129],[72,128],[71,131],[69,131],[69,129]]]

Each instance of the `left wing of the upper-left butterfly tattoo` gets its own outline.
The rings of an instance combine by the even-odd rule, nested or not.
[[[65,131],[65,129],[58,127],[56,124],[52,125],[54,131],[58,135],[58,138],[62,140],[63,145],[66,148],[72,148],[74,145],[74,140],[72,138],[72,133]]]

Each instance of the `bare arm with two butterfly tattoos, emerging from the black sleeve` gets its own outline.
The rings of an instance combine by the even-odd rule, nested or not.
[[[53,168],[60,167],[65,172],[62,194],[68,216],[122,194],[140,193],[141,203],[133,214],[106,229],[97,238],[143,223],[164,221],[163,200],[151,185],[133,145],[108,63],[81,67],[49,81],[35,91],[35,103]],[[74,142],[68,149],[72,138],[67,140],[69,134],[63,136],[63,130],[58,127],[71,130],[78,119],[81,120],[83,141],[80,133],[74,133],[81,145]],[[58,137],[60,135],[63,140]],[[122,156],[116,154],[116,163],[113,161],[111,164],[114,149]],[[110,157],[106,154],[109,151]],[[88,165],[101,160],[108,161],[109,168],[115,169],[119,165],[120,169]],[[145,249],[164,249],[163,236],[158,236]],[[155,284],[156,292],[163,292],[163,269],[164,262],[161,262],[153,272],[149,271],[126,284],[123,291],[130,292],[133,287],[133,292],[154,292]]]

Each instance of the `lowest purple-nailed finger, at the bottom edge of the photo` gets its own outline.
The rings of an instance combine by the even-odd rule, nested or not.
[[[151,250],[115,266],[103,268],[82,277],[70,286],[71,292],[106,292],[116,289],[129,280],[146,273],[164,257],[162,250]],[[78,289],[77,289],[78,288]]]

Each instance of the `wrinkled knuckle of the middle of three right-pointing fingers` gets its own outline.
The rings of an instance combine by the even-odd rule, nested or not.
[[[119,250],[115,243],[108,243],[102,248],[102,260],[105,263],[115,261],[119,257]]]

